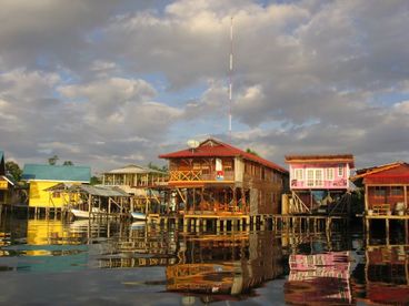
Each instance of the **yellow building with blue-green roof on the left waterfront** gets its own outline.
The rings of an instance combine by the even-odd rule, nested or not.
[[[60,183],[89,184],[91,169],[89,166],[73,165],[24,165],[22,180],[30,184],[29,206],[33,207],[62,207],[68,198],[60,192],[49,192],[47,188]]]

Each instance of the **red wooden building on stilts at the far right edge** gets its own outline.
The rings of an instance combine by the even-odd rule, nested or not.
[[[365,187],[366,215],[409,215],[409,164],[396,162],[361,169],[351,181]]]

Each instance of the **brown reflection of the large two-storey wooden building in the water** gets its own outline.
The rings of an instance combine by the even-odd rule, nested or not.
[[[268,233],[186,239],[178,257],[180,263],[167,267],[168,290],[247,294],[282,274],[281,247]]]

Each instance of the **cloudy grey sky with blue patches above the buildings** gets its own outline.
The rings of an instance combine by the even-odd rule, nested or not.
[[[409,162],[407,0],[0,8],[0,150],[20,166],[164,164],[209,136],[283,166],[286,154]]]

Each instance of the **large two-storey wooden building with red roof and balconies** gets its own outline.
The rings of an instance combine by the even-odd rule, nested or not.
[[[279,213],[288,171],[215,139],[162,154],[176,211],[202,218]]]

